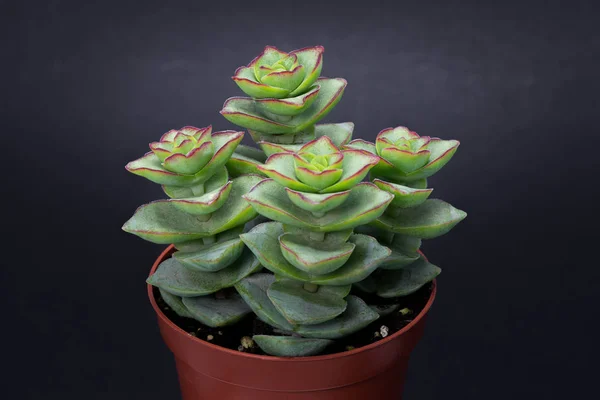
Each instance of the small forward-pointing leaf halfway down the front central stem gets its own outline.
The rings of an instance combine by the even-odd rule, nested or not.
[[[355,247],[353,243],[319,242],[293,233],[281,235],[279,244],[281,253],[290,264],[311,275],[323,275],[340,268]]]

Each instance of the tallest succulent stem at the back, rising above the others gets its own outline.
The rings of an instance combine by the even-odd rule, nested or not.
[[[322,46],[290,53],[267,46],[233,80],[250,97],[232,97],[221,114],[247,128],[256,142],[306,143],[315,123],[340,101],[346,80],[320,77]]]

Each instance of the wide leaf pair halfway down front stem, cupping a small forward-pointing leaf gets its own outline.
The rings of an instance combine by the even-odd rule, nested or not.
[[[289,279],[318,285],[343,286],[361,281],[391,254],[387,247],[381,246],[370,236],[352,235],[349,241],[355,248],[348,261],[334,272],[312,276],[285,259],[278,241],[282,234],[281,224],[267,222],[257,225],[240,237],[268,270]]]

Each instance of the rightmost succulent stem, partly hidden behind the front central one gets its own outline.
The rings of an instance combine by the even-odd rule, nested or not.
[[[441,272],[420,255],[421,239],[447,233],[466,213],[429,199],[433,189],[427,188],[427,178],[450,161],[458,146],[456,140],[419,136],[402,126],[382,130],[374,144],[356,139],[346,145],[380,157],[370,177],[393,195],[385,212],[370,226],[361,227],[392,251],[375,273],[357,284],[361,290],[384,298],[406,296]]]

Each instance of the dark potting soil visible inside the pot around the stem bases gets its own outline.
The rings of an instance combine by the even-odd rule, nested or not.
[[[396,311],[385,317],[379,318],[366,328],[352,335],[335,340],[333,344],[328,346],[327,349],[319,355],[340,353],[363,347],[383,339],[384,336],[389,336],[398,332],[408,325],[413,318],[423,310],[425,304],[427,304],[427,301],[429,300],[432,288],[433,284],[428,283],[409,296],[393,299],[382,299],[362,292],[355,293],[370,305],[385,306],[389,304],[398,304],[399,307]],[[223,328],[208,327],[194,319],[180,317],[175,314],[175,312],[173,312],[173,310],[171,310],[171,308],[163,301],[158,289],[154,288],[153,293],[160,309],[175,325],[187,331],[190,335],[210,343],[232,350],[264,355],[265,353],[256,345],[252,348],[244,348],[241,345],[242,337],[248,336],[251,338],[253,335],[277,335],[270,325],[260,321],[253,313],[232,326]],[[406,313],[405,309],[410,310],[410,312]],[[404,310],[406,314],[401,313],[400,310]],[[382,336],[382,330],[386,330],[385,327],[382,328],[382,326],[388,328],[387,335],[385,335],[384,332],[384,336]]]

